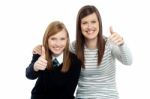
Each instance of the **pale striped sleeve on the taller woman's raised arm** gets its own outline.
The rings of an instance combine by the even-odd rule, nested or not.
[[[112,45],[112,55],[124,65],[132,64],[132,55],[125,43],[121,46]]]

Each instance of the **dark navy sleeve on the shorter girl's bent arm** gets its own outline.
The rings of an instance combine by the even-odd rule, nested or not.
[[[33,54],[32,61],[29,64],[29,66],[26,68],[26,77],[28,79],[36,79],[39,75],[39,72],[36,72],[33,69],[34,63],[37,61],[38,58],[39,58],[38,54]]]

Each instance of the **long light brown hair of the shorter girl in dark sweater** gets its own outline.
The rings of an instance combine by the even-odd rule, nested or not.
[[[45,48],[46,60],[48,61],[48,63],[47,63],[48,70],[52,69],[52,52],[50,51],[49,46],[48,46],[48,39],[52,35],[55,35],[58,32],[62,31],[63,29],[67,33],[67,44],[66,44],[66,47],[63,52],[63,66],[62,66],[61,71],[67,72],[70,68],[71,58],[70,58],[70,52],[69,52],[69,34],[67,31],[67,28],[65,27],[65,25],[62,22],[53,21],[46,28],[46,31],[45,31],[45,34],[43,37],[43,46]]]

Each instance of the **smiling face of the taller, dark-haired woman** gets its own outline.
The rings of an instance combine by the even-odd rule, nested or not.
[[[97,39],[99,21],[95,13],[81,19],[81,31],[86,40]]]

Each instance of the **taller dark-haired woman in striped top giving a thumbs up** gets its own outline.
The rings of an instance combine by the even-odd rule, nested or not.
[[[76,20],[76,41],[70,50],[80,59],[82,68],[76,92],[77,99],[118,99],[116,88],[116,59],[131,65],[132,57],[123,37],[110,27],[110,36],[102,34],[98,9],[83,6]],[[40,54],[38,47],[34,53]]]

